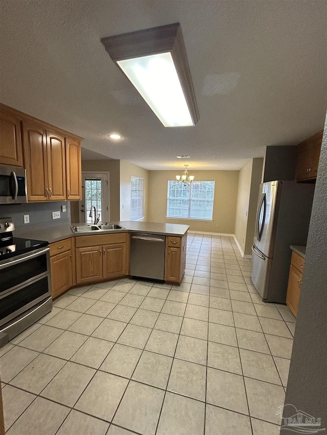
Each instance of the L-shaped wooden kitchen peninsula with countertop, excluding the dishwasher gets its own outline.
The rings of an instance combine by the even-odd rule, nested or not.
[[[185,271],[189,225],[139,221],[116,223],[123,228],[73,233],[70,225],[62,225],[22,234],[50,243],[53,298],[76,285],[130,276],[131,236],[135,233],[164,236],[163,280],[180,284]]]

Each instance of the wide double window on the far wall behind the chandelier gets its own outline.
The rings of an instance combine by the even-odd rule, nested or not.
[[[194,181],[188,186],[169,181],[167,217],[212,219],[214,193],[214,181]]]

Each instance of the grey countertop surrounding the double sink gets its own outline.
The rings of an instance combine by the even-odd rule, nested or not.
[[[67,239],[68,237],[80,236],[96,236],[101,234],[111,233],[144,233],[144,234],[158,234],[162,236],[183,236],[188,229],[189,225],[178,225],[173,223],[159,223],[159,222],[139,222],[139,221],[120,221],[114,222],[123,226],[125,229],[111,229],[109,231],[90,231],[83,233],[73,233],[71,225],[60,225],[53,228],[40,229],[39,231],[26,232],[19,234],[19,237],[44,240],[49,243],[58,242],[59,240]],[[72,224],[83,225],[83,224]]]

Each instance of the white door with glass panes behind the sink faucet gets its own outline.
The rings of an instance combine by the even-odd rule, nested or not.
[[[80,222],[92,224],[97,209],[99,223],[109,222],[109,172],[82,172],[82,200],[80,201]]]

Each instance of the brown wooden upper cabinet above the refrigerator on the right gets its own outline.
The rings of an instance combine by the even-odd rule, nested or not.
[[[318,173],[318,164],[323,132],[298,144],[297,181],[315,181]]]

